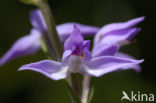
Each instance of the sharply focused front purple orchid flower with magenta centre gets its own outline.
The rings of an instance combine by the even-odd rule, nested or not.
[[[72,34],[64,43],[62,62],[42,60],[20,67],[19,70],[33,70],[53,79],[60,80],[69,73],[81,73],[99,77],[106,73],[125,70],[126,66],[136,65],[143,60],[134,60],[115,56],[118,45],[107,45],[99,43],[94,47],[92,53],[89,51],[90,41],[84,40],[75,25]],[[101,48],[102,47],[102,48]]]

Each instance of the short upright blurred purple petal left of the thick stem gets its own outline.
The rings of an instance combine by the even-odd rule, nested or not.
[[[39,9],[33,10],[30,13],[30,21],[34,28],[40,30],[41,32],[47,30],[46,23],[42,12]]]

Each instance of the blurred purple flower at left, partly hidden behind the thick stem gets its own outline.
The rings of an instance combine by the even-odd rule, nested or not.
[[[33,26],[29,35],[21,37],[6,54],[0,59],[0,66],[6,62],[20,56],[30,55],[40,50],[40,38],[47,32],[47,27],[40,10],[34,10],[30,14],[30,21]],[[72,32],[73,25],[77,24],[84,36],[93,36],[98,27],[82,25],[79,23],[69,22],[56,26],[56,30],[62,42],[64,42]]]

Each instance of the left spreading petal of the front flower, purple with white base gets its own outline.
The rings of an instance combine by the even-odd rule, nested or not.
[[[40,62],[23,65],[19,70],[32,70],[39,72],[50,79],[60,80],[67,77],[68,67],[62,66],[60,62],[42,60]]]

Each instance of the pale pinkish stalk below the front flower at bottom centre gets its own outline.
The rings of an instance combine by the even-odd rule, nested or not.
[[[87,103],[88,102],[88,95],[90,90],[90,76],[84,76],[83,83],[82,83],[82,97],[81,102]]]

